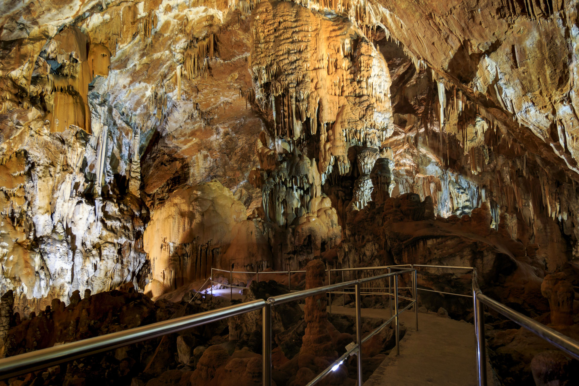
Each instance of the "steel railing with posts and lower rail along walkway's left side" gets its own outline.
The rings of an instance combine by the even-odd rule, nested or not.
[[[396,272],[391,272],[383,275],[377,275],[369,278],[362,278],[358,280],[351,280],[347,282],[337,283],[333,285],[322,286],[318,288],[306,289],[303,291],[287,293],[284,295],[269,297],[267,300],[254,300],[252,302],[236,304],[230,307],[218,308],[217,310],[206,311],[204,313],[188,315],[185,317],[168,319],[167,321],[152,323],[151,325],[141,326],[133,329],[128,329],[120,332],[105,334],[89,339],[83,339],[72,343],[58,345],[56,347],[44,348],[42,350],[31,351],[25,354],[10,356],[9,358],[0,359],[0,380],[19,376],[21,374],[30,373],[35,370],[43,369],[58,365],[59,363],[71,361],[72,359],[82,358],[83,356],[97,354],[103,351],[113,350],[114,348],[123,347],[125,345],[138,343],[147,339],[162,336],[168,333],[179,332],[181,330],[193,328],[195,326],[204,325],[206,323],[218,321],[221,319],[233,317],[236,315],[248,313],[250,311],[263,310],[263,385],[270,386],[272,384],[272,307],[276,304],[283,304],[295,300],[304,299],[305,297],[321,295],[326,292],[336,291],[347,287],[354,286],[356,289],[356,345],[351,347],[346,354],[340,356],[338,361],[334,362],[331,367],[325,369],[319,374],[309,386],[314,385],[321,380],[333,368],[333,366],[340,365],[339,361],[347,358],[347,355],[357,352],[357,378],[358,384],[362,384],[362,358],[361,358],[361,344],[370,339],[374,334],[378,333],[386,327],[393,319],[395,322],[395,339],[397,353],[400,354],[400,330],[398,316],[408,310],[411,306],[414,307],[417,315],[418,306],[416,298],[412,299],[411,303],[398,310],[398,277],[405,273],[416,273],[415,270],[406,269]],[[361,285],[374,281],[382,280],[384,278],[394,278],[394,306],[395,314],[384,322],[371,334],[361,339],[361,307],[360,307],[360,288]],[[414,281],[416,283],[416,281]],[[413,289],[413,294],[416,295],[416,288]],[[416,316],[416,321],[417,321]],[[416,325],[417,328],[417,325]]]

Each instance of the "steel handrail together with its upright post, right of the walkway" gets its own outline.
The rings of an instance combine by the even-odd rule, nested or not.
[[[494,300],[483,294],[481,288],[478,285],[476,269],[473,270],[472,274],[472,297],[474,306],[473,311],[475,336],[477,337],[477,367],[479,386],[486,386],[485,312],[483,309],[483,304],[493,308],[493,310],[511,319],[519,326],[526,328],[530,332],[536,334],[538,337],[543,338],[555,347],[560,348],[560,350],[565,351],[573,358],[579,360],[578,341],[571,339],[570,337],[552,328],[549,328],[534,319],[526,317],[525,315],[518,313],[512,308],[505,306],[503,303],[497,302],[497,300]]]

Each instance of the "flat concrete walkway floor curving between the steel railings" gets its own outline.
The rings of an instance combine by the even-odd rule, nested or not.
[[[355,315],[354,308],[332,306],[333,313]],[[389,310],[362,308],[362,317],[389,318]],[[418,314],[418,332],[412,310],[400,315],[406,334],[396,350],[365,381],[364,386],[475,386],[477,359],[474,326],[437,314]],[[493,385],[487,362],[489,382]]]

